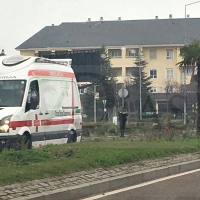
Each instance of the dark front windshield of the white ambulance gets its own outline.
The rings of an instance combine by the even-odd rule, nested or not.
[[[0,80],[0,107],[22,105],[26,80]]]

